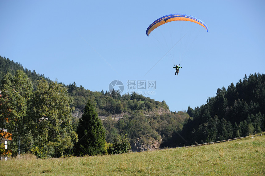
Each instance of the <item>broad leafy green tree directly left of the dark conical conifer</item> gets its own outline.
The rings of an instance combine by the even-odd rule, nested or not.
[[[50,152],[52,157],[71,149],[77,141],[72,126],[72,98],[67,88],[56,81],[42,79],[32,98],[32,117],[35,122],[34,137],[37,146]]]

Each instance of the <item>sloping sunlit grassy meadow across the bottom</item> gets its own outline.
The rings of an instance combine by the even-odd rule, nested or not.
[[[265,135],[229,142],[83,158],[0,162],[0,175],[265,175]]]

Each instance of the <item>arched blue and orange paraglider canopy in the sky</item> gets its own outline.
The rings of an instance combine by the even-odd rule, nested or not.
[[[165,24],[167,22],[172,22],[172,21],[195,22],[195,23],[203,26],[208,32],[208,27],[206,26],[206,24],[204,22],[202,22],[201,20],[199,20],[198,18],[195,18],[195,17],[190,16],[190,15],[186,15],[186,14],[170,14],[170,15],[166,15],[166,16],[163,16],[161,18],[158,18],[156,21],[154,21],[152,24],[150,24],[150,26],[146,30],[146,35],[149,36],[149,34],[154,29],[156,29],[158,26],[161,26],[162,24]]]

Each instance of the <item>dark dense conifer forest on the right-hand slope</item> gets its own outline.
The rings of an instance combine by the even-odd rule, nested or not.
[[[218,89],[215,97],[195,109],[188,107],[182,130],[162,143],[184,146],[261,133],[265,127],[265,74],[245,75],[234,86]]]

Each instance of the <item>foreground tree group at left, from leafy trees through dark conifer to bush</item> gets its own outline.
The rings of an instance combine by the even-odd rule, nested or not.
[[[128,151],[127,138],[117,135],[114,143],[105,141],[105,129],[90,101],[75,124],[73,98],[61,83],[43,78],[33,91],[27,74],[17,70],[14,76],[3,77],[0,90],[0,128],[12,135],[8,146],[13,154],[32,152],[39,158],[57,158]]]

